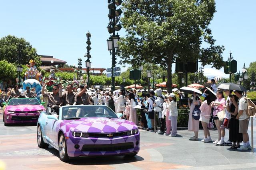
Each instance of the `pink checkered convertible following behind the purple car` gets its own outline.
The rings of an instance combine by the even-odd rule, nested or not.
[[[4,125],[15,123],[37,123],[44,106],[36,98],[12,98],[4,106]]]

